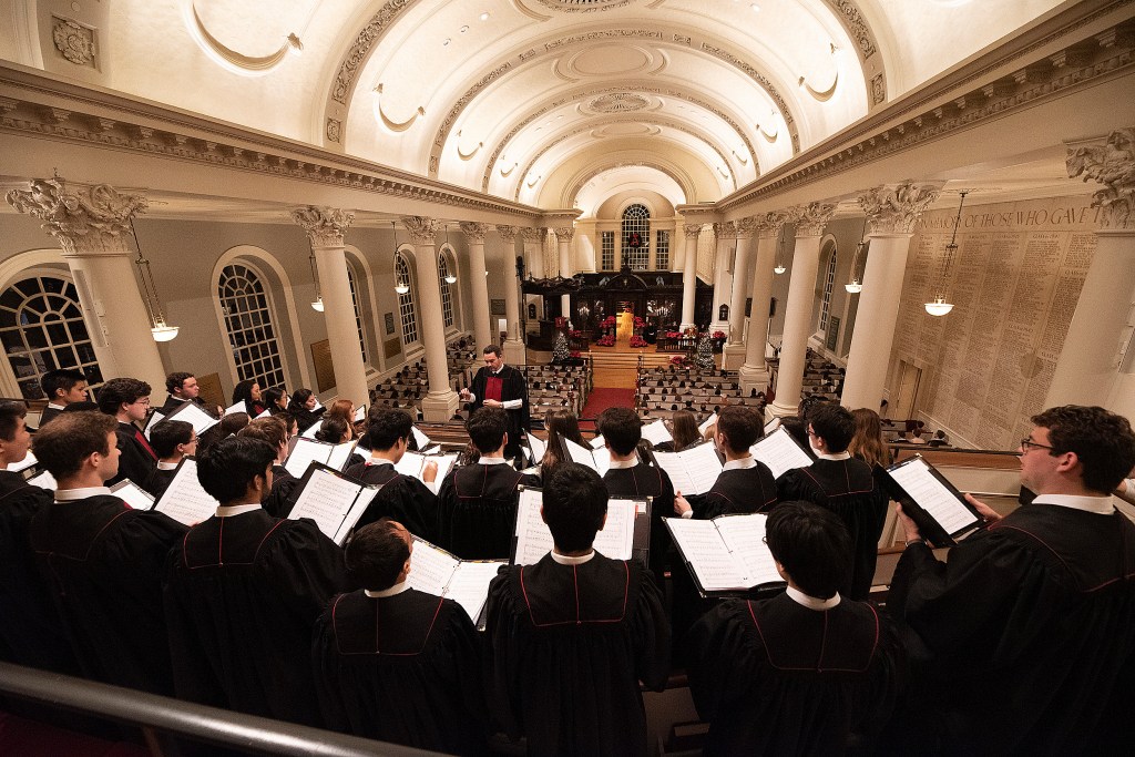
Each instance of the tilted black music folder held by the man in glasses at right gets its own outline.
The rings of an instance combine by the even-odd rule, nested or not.
[[[875,478],[902,505],[902,512],[918,525],[922,537],[935,547],[952,546],[985,522],[965,496],[922,455],[886,470],[875,468]]]

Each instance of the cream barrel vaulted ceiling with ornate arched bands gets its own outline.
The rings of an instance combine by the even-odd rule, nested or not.
[[[589,215],[729,195],[1059,5],[7,0],[0,58]]]

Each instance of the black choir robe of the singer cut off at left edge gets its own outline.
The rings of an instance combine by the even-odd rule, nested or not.
[[[81,675],[28,541],[32,518],[50,502],[50,491],[0,470],[0,659]]]

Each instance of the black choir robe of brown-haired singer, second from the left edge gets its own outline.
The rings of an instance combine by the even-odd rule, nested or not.
[[[177,521],[112,495],[39,508],[36,567],[87,678],[174,696],[161,574],[184,535]]]

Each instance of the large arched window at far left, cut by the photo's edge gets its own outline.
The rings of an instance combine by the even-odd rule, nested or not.
[[[75,285],[58,276],[30,276],[0,294],[0,343],[25,399],[40,399],[40,377],[79,370],[102,384]]]

